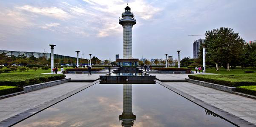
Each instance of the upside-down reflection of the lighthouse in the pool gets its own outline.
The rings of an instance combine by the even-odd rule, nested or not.
[[[132,113],[132,84],[123,86],[123,113],[119,116],[123,127],[132,127],[136,116]]]

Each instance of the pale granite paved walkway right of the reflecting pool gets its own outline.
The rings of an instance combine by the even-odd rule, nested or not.
[[[256,100],[199,86],[193,83],[165,83],[217,108],[256,124]]]

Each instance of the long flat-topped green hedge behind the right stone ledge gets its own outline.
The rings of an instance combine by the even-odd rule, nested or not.
[[[188,75],[190,79],[215,83],[224,86],[255,86],[256,75],[237,74],[237,75]]]

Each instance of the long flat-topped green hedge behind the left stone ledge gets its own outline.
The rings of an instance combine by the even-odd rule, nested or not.
[[[66,75],[43,75],[43,74],[10,74],[0,75],[0,86],[23,86],[45,83],[54,80],[64,79]]]

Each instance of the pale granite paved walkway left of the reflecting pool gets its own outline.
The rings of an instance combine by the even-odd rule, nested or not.
[[[63,83],[57,86],[43,88],[14,97],[0,99],[0,121],[3,121],[25,110],[34,108],[51,99],[59,97],[89,83]]]

